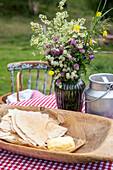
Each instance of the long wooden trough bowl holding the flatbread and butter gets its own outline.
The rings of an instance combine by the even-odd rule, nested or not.
[[[6,106],[0,108],[1,117],[8,109],[40,111],[40,107]],[[49,109],[49,108],[45,108]],[[76,118],[86,135],[86,143],[73,153],[51,152],[33,147],[20,146],[0,140],[0,148],[17,154],[58,162],[82,163],[95,161],[113,161],[113,120],[97,115],[50,109],[62,116],[71,115]]]

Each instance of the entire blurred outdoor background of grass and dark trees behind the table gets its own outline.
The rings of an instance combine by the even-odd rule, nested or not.
[[[39,51],[30,46],[32,35],[30,22],[40,22],[38,18],[40,13],[52,19],[58,11],[58,2],[58,0],[0,0],[0,95],[9,93],[11,90],[11,74],[7,71],[8,63],[43,59]],[[67,0],[65,10],[70,15],[69,20],[83,17],[87,19],[86,26],[88,26],[91,17],[95,15],[98,3],[99,0]],[[111,7],[113,7],[113,1],[109,0],[105,11]],[[106,18],[109,16],[111,20],[109,34],[113,36],[113,10]],[[86,84],[91,74],[113,73],[113,39],[106,39],[104,44],[101,43],[99,51],[106,51],[106,53],[95,56],[92,62],[94,67],[88,68],[87,74],[82,77]],[[33,52],[36,53],[35,56]],[[32,88],[35,88],[35,72],[33,77]],[[27,78],[25,73],[24,80],[27,81]],[[24,88],[27,87],[24,86]]]

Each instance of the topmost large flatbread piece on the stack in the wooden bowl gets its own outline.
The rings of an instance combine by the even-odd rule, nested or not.
[[[23,113],[15,114],[15,121],[21,131],[39,146],[44,146],[48,138],[46,124],[48,119],[32,117]]]

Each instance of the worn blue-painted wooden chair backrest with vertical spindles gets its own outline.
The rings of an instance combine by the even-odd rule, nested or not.
[[[7,65],[7,70],[11,72],[11,92],[14,92],[14,71],[20,72],[20,82],[21,82],[21,89],[23,90],[23,70],[29,70],[29,78],[28,78],[28,89],[31,89],[31,70],[37,70],[37,77],[36,77],[36,90],[39,90],[39,75],[40,70],[45,70],[44,75],[44,84],[43,84],[43,93],[46,94],[46,86],[47,86],[47,62],[42,61],[23,61],[23,62],[16,62],[16,63],[9,63]],[[49,94],[52,94],[53,91],[53,79],[51,77],[50,83],[50,91]]]

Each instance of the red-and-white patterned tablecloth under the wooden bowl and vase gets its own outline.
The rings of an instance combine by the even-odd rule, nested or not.
[[[29,99],[10,105],[57,108],[55,95]],[[85,111],[85,104],[82,111]],[[112,149],[112,148],[111,148]],[[113,170],[113,162],[61,163],[22,156],[0,149],[0,170]]]

